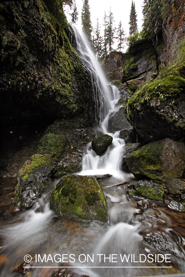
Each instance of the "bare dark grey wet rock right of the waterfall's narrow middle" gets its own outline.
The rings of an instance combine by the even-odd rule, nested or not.
[[[114,131],[132,128],[127,118],[124,115],[124,106],[118,106],[116,110],[109,114],[108,129],[110,133]]]

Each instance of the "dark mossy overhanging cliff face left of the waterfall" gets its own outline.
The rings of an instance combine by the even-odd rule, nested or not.
[[[25,125],[38,129],[58,118],[78,117],[93,124],[89,73],[72,47],[74,37],[64,14],[59,23],[45,3],[0,4],[4,134],[10,130],[15,134]]]

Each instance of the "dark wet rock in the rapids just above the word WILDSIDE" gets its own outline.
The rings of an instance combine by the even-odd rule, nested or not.
[[[150,246],[153,246],[159,250],[165,252],[173,252],[171,245],[168,243],[167,239],[161,234],[145,235],[143,240]]]

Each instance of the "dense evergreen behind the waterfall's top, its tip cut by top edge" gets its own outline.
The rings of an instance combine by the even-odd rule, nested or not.
[[[87,35],[88,39],[91,41],[92,33],[92,23],[90,18],[90,7],[88,0],[83,0],[84,4],[82,7],[81,19],[82,19],[82,29]]]

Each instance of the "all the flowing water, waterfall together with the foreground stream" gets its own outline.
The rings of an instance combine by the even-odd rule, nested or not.
[[[96,101],[96,120],[100,123],[102,133],[108,133],[108,116],[120,95],[115,87],[110,90],[107,86],[88,42],[76,29],[75,32],[79,53],[95,80],[93,97]],[[0,249],[0,276],[19,276],[13,270],[27,255],[32,257],[32,277],[50,276],[57,267],[62,266],[90,277],[185,272],[185,215],[169,211],[164,204],[147,210],[139,208],[137,201],[128,198],[125,185],[116,186],[134,180],[134,176],[121,171],[125,142],[119,138],[119,131],[110,135],[113,136],[113,143],[102,156],[96,155],[91,143],[88,143],[83,168],[78,173],[112,175],[100,181],[107,200],[109,222],[56,216],[49,208],[51,191],[59,181],[55,179],[43,190],[42,196],[30,210],[16,215],[13,222],[1,227],[3,247]],[[143,236],[149,238],[150,235],[157,237],[155,240],[153,237],[153,244],[149,245]],[[166,261],[162,258],[165,255]],[[42,259],[39,263],[38,257]]]

